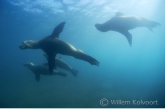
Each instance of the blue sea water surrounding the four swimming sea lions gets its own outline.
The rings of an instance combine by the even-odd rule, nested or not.
[[[164,0],[1,0],[0,1],[0,107],[165,107]],[[117,32],[102,33],[94,27],[122,12],[161,24],[130,30],[132,47]],[[21,50],[24,40],[50,35],[66,22],[60,39],[100,62],[100,67],[57,55],[79,71],[75,78],[41,76],[23,66],[43,64],[42,50]],[[106,106],[100,104],[104,101]],[[130,101],[113,104],[112,100]],[[133,104],[148,101],[150,104]],[[156,103],[157,101],[157,103]],[[155,103],[155,104],[151,104]]]

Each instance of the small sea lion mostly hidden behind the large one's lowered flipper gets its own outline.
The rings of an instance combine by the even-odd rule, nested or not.
[[[48,56],[46,54],[44,54],[44,56],[46,57],[46,59],[48,59]],[[47,63],[44,65],[48,65]],[[70,71],[75,77],[77,76],[78,71],[73,69],[71,66],[69,66],[64,60],[55,57],[55,65],[61,69],[65,69],[67,71]]]

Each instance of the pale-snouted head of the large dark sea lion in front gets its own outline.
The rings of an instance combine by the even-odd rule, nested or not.
[[[33,40],[23,41],[22,44],[19,46],[19,48],[22,50],[29,49],[29,48],[32,49],[35,42],[36,41],[33,41]]]

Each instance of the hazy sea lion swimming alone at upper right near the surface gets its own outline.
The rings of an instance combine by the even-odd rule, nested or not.
[[[132,35],[128,32],[128,30],[134,29],[136,27],[147,27],[152,31],[152,29],[157,26],[160,26],[160,23],[143,17],[124,16],[120,12],[117,12],[116,16],[112,17],[103,24],[95,24],[96,29],[101,32],[112,30],[123,34],[127,38],[130,46],[132,45]]]

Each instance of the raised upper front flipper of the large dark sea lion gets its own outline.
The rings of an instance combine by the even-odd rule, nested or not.
[[[53,33],[49,36],[50,38],[58,38],[59,34],[62,32],[64,26],[65,26],[66,22],[61,22],[59,25],[57,25],[54,30]]]

